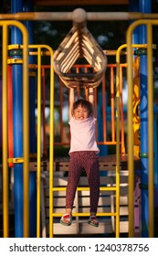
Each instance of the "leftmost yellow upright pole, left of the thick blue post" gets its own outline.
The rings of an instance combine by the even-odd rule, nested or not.
[[[2,22],[1,22],[2,23]],[[3,88],[2,88],[2,139],[3,139],[3,223],[4,223],[4,238],[8,237],[8,166],[7,166],[7,24],[3,24]]]

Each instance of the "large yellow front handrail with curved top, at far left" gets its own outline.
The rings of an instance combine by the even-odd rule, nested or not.
[[[3,27],[3,215],[4,215],[4,237],[8,237],[8,166],[7,166],[7,45],[8,45],[8,27],[18,27],[23,35],[23,154],[24,154],[24,237],[29,236],[29,89],[28,89],[28,34],[26,27],[18,21],[0,21]]]

